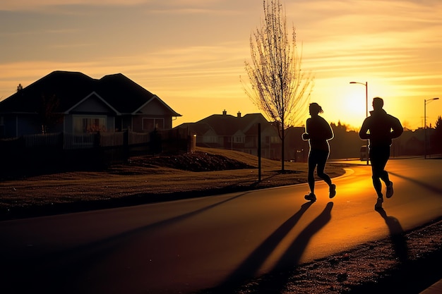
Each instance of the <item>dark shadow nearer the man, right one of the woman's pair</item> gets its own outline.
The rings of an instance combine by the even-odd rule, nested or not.
[[[282,255],[275,268],[270,272],[271,278],[259,284],[257,293],[283,292],[289,278],[292,276],[292,271],[289,269],[294,269],[294,267],[299,264],[299,260],[309,244],[310,239],[330,221],[332,208],[333,202],[328,202],[323,212],[299,233],[285,254]]]

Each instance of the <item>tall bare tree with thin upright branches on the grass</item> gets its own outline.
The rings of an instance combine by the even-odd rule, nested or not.
[[[281,140],[281,171],[284,172],[285,131],[305,117],[313,87],[311,73],[301,71],[302,54],[287,32],[280,0],[263,1],[264,19],[250,37],[251,63],[245,61],[249,83],[241,80],[246,94],[277,128]]]

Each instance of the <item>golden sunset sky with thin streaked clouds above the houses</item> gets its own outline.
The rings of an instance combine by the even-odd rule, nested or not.
[[[301,68],[314,76],[310,102],[329,123],[357,130],[371,99],[382,97],[406,128],[422,128],[425,109],[434,126],[442,115],[442,1],[281,3]],[[126,75],[181,114],[173,126],[224,110],[262,112],[240,80],[262,17],[262,0],[2,0],[0,100],[19,83],[79,71]]]

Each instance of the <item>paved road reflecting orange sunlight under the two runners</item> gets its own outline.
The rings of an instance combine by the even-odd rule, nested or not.
[[[191,293],[326,257],[442,216],[441,162],[390,160],[383,214],[360,165],[314,203],[301,184],[1,221],[1,293]]]

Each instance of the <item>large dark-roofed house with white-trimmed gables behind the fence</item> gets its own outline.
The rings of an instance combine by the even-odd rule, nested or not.
[[[0,102],[0,137],[37,133],[96,133],[172,128],[181,116],[121,73],[100,80],[54,71]]]

